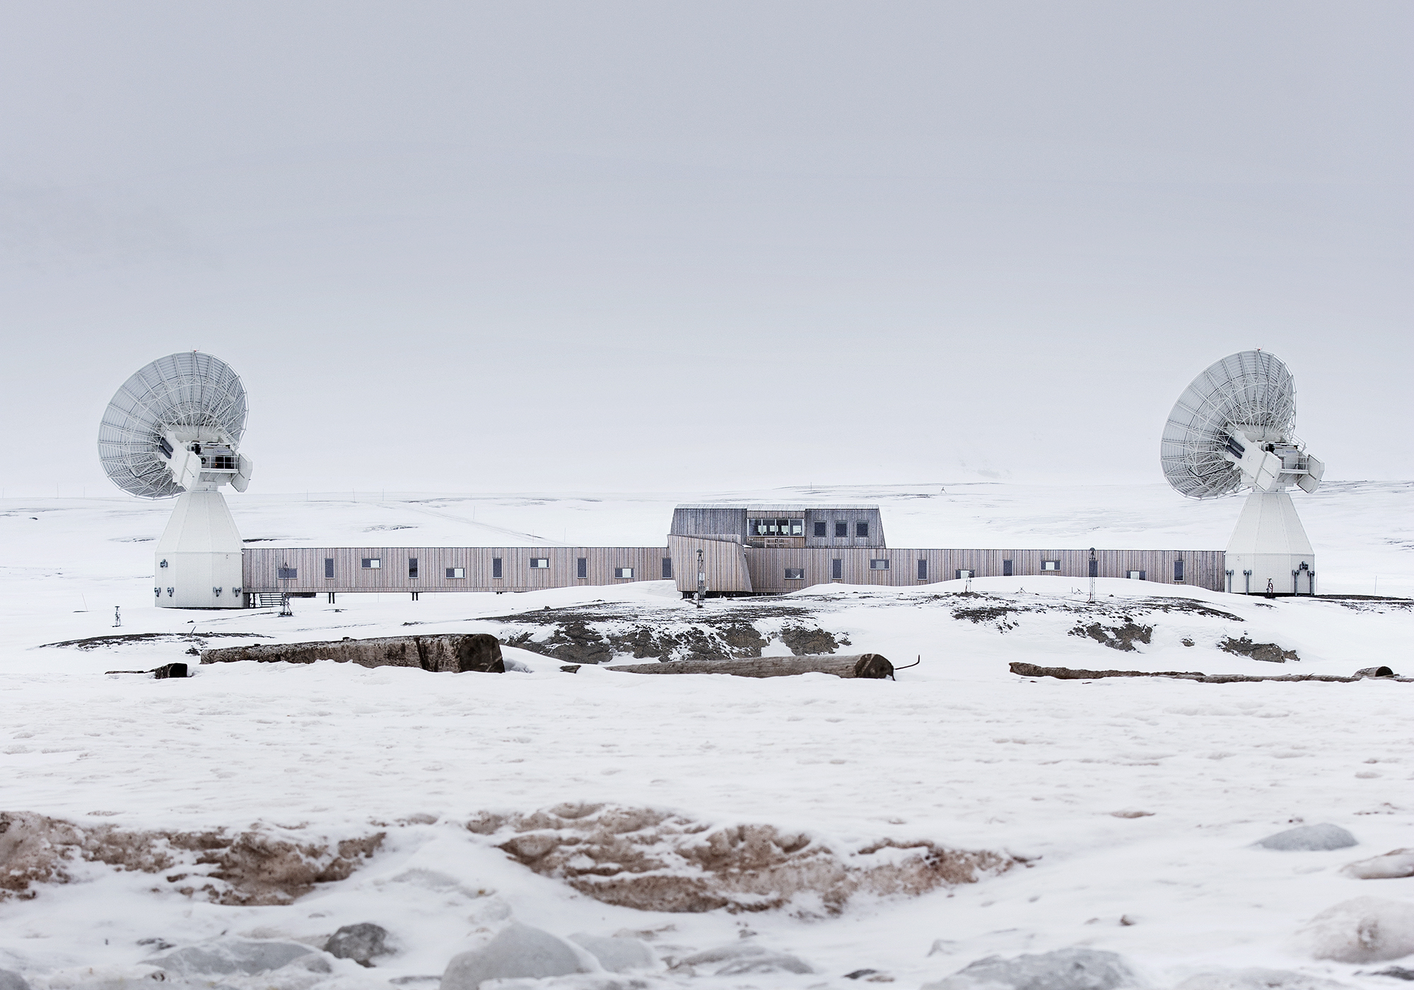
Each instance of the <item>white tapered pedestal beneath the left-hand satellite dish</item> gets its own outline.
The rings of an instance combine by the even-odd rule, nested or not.
[[[185,492],[153,556],[160,608],[240,608],[240,532],[216,489]]]

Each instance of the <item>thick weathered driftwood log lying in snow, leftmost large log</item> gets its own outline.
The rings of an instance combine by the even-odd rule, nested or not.
[[[465,673],[505,673],[501,642],[485,632],[450,632],[434,636],[383,636],[334,639],[312,644],[252,644],[201,651],[202,663],[314,663],[334,660],[362,668],[420,668]]]

